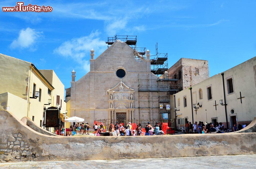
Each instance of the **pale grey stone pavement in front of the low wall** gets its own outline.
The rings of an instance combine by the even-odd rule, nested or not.
[[[256,154],[127,160],[0,163],[0,168],[254,168]]]

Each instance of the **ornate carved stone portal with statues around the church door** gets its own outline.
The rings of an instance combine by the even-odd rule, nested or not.
[[[124,88],[125,87],[125,88]],[[115,91],[114,89],[117,89]],[[120,79],[120,82],[113,88],[106,91],[109,103],[109,119],[116,120],[116,113],[126,113],[127,120],[134,120],[134,89],[126,86]],[[114,122],[113,122],[114,123]]]

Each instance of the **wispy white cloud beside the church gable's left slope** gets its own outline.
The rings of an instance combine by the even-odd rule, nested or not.
[[[90,62],[88,59],[91,58],[90,50],[92,48],[94,49],[95,59],[98,54],[102,53],[106,49],[106,43],[105,41],[100,40],[99,34],[100,32],[96,30],[95,32],[91,32],[88,36],[73,38],[69,41],[63,42],[54,50],[54,52],[63,57],[69,57],[75,60],[84,70],[89,71]]]

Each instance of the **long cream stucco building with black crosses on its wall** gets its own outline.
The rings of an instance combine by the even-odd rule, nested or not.
[[[228,122],[228,128],[234,123],[249,124],[256,115],[255,93],[256,57],[253,57],[191,88],[170,95],[171,117],[175,119],[176,113],[177,128],[183,127],[186,121],[222,122],[225,127]]]

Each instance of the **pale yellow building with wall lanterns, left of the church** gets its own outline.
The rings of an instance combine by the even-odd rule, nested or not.
[[[0,110],[9,110],[19,119],[27,116],[42,127],[44,107],[58,104],[61,120],[67,118],[64,85],[53,70],[38,70],[30,62],[0,54],[0,79]]]

